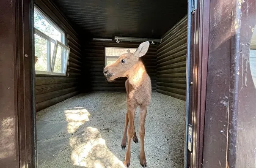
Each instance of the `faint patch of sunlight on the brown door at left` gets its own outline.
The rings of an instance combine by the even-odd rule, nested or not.
[[[0,160],[14,154],[14,141],[6,137],[14,138],[14,119],[11,117],[0,121]]]

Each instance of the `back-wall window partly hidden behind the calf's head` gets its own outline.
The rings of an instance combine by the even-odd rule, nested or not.
[[[128,49],[131,51],[131,53],[136,51],[136,48],[105,47],[105,66],[116,62],[121,54],[127,53]]]

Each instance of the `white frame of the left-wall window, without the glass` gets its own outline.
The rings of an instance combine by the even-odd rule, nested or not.
[[[56,30],[58,30],[61,33],[61,41],[54,40],[50,36],[46,35],[45,33],[41,32],[39,29],[37,29],[34,25],[34,35],[38,35],[41,38],[44,38],[47,40],[47,71],[43,70],[36,70],[36,75],[53,75],[53,76],[66,76],[67,75],[67,66],[68,66],[68,60],[69,60],[69,53],[70,53],[70,48],[66,46],[66,33],[58,27],[55,22],[52,21],[52,19],[44,14],[43,11],[41,11],[36,5],[34,5],[34,11],[36,11],[39,15],[41,15],[48,23],[51,24],[52,27],[54,27]],[[51,56],[51,42],[54,43],[54,49],[53,49],[53,55]],[[55,58],[56,58],[56,53],[57,49],[56,46],[61,45],[64,49],[67,50],[67,60],[64,60],[61,64],[61,66],[65,69],[63,69],[63,73],[56,73],[53,72],[54,70],[54,65],[55,65]],[[34,45],[35,47],[35,45]],[[56,50],[56,52],[55,52]],[[51,59],[52,57],[52,59]],[[62,59],[64,59],[63,55],[61,56]]]

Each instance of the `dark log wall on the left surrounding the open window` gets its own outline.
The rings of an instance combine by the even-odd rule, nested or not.
[[[82,72],[82,50],[79,36],[50,0],[34,0],[53,22],[66,32],[67,45],[70,48],[67,76],[49,76],[36,74],[36,110],[52,106],[80,91],[79,81]]]

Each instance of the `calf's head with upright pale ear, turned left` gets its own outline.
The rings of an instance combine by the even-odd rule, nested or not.
[[[111,65],[107,65],[103,73],[107,78],[107,81],[113,81],[119,77],[127,77],[129,70],[138,63],[139,58],[146,54],[149,49],[149,41],[140,44],[138,49],[131,53],[122,54],[119,56],[118,60]]]

